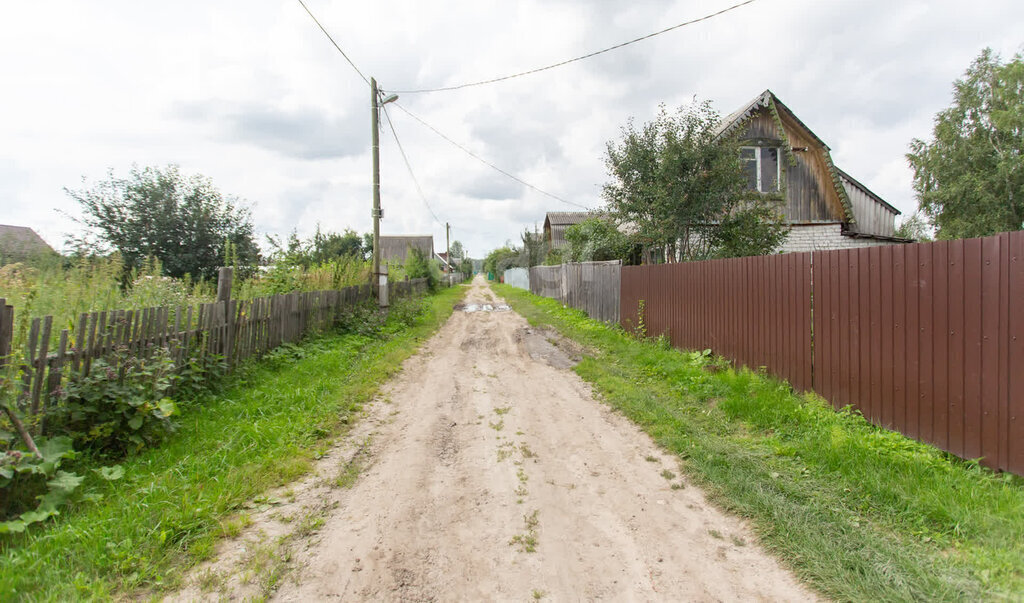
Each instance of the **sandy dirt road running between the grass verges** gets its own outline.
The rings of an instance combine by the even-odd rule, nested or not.
[[[479,279],[465,303],[475,311],[456,311],[323,477],[291,492],[323,521],[289,540],[275,599],[813,599],[594,399],[567,342],[530,329]],[[358,464],[350,487],[326,484]],[[264,515],[262,539],[284,542],[300,523]],[[251,554],[254,541],[240,542],[206,575],[239,565],[240,547]],[[214,598],[245,595],[245,583],[223,580]],[[181,598],[204,596],[197,589]]]

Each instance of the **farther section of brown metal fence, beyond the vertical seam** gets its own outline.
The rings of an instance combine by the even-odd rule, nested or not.
[[[809,253],[624,266],[622,325],[811,387]]]

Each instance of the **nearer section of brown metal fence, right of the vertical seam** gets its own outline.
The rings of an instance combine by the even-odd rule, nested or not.
[[[814,389],[1024,474],[1024,232],[816,252]]]

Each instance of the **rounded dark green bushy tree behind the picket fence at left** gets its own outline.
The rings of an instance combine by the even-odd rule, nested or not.
[[[226,255],[244,265],[259,259],[249,209],[177,166],[133,167],[127,178],[112,171],[92,188],[65,191],[79,203],[77,220],[92,235],[80,243],[96,253],[120,252],[126,267],[153,256],[170,276],[212,277]]]

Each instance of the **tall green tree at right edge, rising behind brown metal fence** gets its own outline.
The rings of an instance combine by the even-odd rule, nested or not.
[[[906,159],[922,212],[938,239],[1024,228],[1024,56],[1002,63],[986,48],[953,83],[930,142]]]

